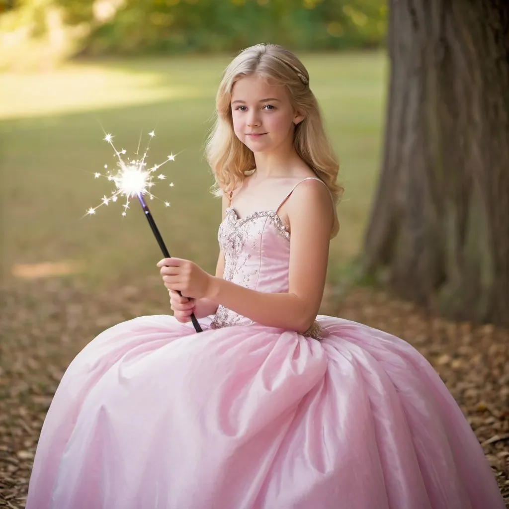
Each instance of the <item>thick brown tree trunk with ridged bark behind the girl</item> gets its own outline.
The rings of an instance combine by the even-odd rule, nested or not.
[[[509,2],[389,0],[384,159],[363,266],[445,316],[509,324]]]

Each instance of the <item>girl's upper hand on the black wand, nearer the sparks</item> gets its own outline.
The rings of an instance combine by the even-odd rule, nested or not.
[[[193,299],[207,297],[212,284],[212,276],[195,263],[180,258],[165,258],[158,264],[168,290],[179,291]]]

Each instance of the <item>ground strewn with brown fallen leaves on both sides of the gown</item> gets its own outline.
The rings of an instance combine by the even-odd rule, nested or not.
[[[98,332],[138,315],[168,312],[158,277],[94,295],[69,279],[2,289],[0,507],[24,507],[42,422],[66,366]],[[509,331],[427,317],[414,305],[353,289],[323,313],[404,338],[433,364],[482,444],[509,507]],[[488,509],[488,508],[487,508]]]

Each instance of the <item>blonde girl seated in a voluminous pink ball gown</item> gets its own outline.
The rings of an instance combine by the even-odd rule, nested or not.
[[[230,64],[207,156],[223,201],[215,276],[161,260],[174,316],[121,323],[73,360],[26,507],[503,509],[430,364],[317,317],[341,188],[292,53],[257,45]]]

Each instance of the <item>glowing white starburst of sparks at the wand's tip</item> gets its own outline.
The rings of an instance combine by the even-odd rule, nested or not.
[[[151,131],[148,133],[150,136],[150,140],[155,136],[155,132]],[[175,161],[175,156],[173,153],[167,157],[165,161],[163,161],[160,164],[154,164],[152,168],[147,169],[147,163],[145,162],[145,159],[147,157],[149,146],[147,146],[147,149],[143,153],[143,156],[140,159],[127,159],[127,162],[124,161],[124,159],[121,157],[126,153],[125,149],[122,149],[120,152],[115,148],[115,146],[112,143],[113,136],[111,134],[106,134],[104,136],[104,141],[109,143],[113,150],[115,151],[115,157],[118,159],[117,162],[117,169],[116,171],[110,171],[108,170],[108,165],[105,164],[104,168],[107,169],[107,172],[105,175],[96,172],[94,173],[94,178],[98,179],[99,177],[105,177],[110,182],[115,183],[115,189],[111,192],[109,196],[104,195],[102,197],[102,202],[97,207],[90,207],[87,210],[86,215],[94,215],[96,213],[96,210],[101,205],[108,205],[109,202],[116,202],[118,200],[119,196],[125,196],[126,202],[123,205],[123,212],[122,215],[125,216],[127,213],[127,209],[129,209],[129,202],[133,197],[142,196],[142,195],[148,195],[151,200],[153,200],[155,197],[154,194],[152,194],[151,189],[155,185],[155,182],[152,181],[152,179],[155,177],[154,172],[158,171],[158,169],[165,164],[168,161]],[[150,145],[149,140],[149,145]],[[137,156],[139,152],[139,146],[138,151],[135,152],[135,155]],[[159,173],[157,175],[158,180],[165,180],[166,175]],[[170,187],[173,187],[173,182],[169,184]],[[164,202],[164,205],[166,207],[169,207],[169,202]]]

